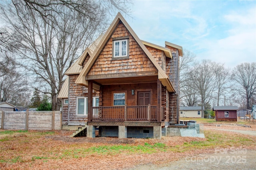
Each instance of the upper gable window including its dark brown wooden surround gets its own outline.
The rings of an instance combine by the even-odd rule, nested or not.
[[[113,38],[113,59],[129,57],[129,37]]]

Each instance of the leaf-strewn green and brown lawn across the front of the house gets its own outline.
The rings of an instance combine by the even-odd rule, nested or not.
[[[2,131],[3,132],[3,131]],[[206,140],[190,139],[188,142],[175,144],[175,140],[169,139],[155,141],[154,139],[141,139],[139,144],[106,144],[106,143],[60,143],[60,141],[48,140],[45,138],[48,135],[54,134],[54,131],[19,131],[22,134],[17,134],[17,131],[5,131],[5,134],[13,134],[2,137],[0,145],[0,166],[1,164],[35,164],[37,160],[42,162],[50,162],[57,159],[76,159],[85,158],[87,156],[115,156],[118,154],[138,155],[138,154],[154,154],[164,152],[197,152],[198,150],[214,150],[218,148],[230,147],[251,147],[256,146],[256,138],[240,135],[227,134],[220,131],[204,130]],[[14,134],[16,133],[16,134]],[[23,135],[23,133],[25,135]],[[20,138],[22,137],[22,138]],[[185,139],[185,138],[184,138]],[[170,141],[169,141],[170,140]],[[174,141],[172,141],[174,140]],[[194,140],[194,141],[191,141]],[[155,143],[153,143],[155,141]],[[161,143],[160,143],[161,142]]]

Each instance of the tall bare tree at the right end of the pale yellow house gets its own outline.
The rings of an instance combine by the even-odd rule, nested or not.
[[[193,86],[201,97],[201,110],[213,97],[216,86],[214,76],[214,66],[216,64],[210,60],[203,60],[202,63],[195,63],[192,70]],[[204,114],[202,114],[204,117]]]

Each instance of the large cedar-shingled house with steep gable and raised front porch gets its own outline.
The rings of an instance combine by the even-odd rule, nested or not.
[[[179,123],[179,56],[138,38],[118,13],[108,30],[65,73],[64,126],[87,125],[87,137],[154,137]],[[65,86],[66,84],[66,86]]]

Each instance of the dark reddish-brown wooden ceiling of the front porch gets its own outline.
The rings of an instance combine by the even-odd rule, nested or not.
[[[95,79],[94,82],[101,85],[110,84],[135,84],[135,83],[152,83],[157,82],[158,76],[140,76],[140,77],[122,77],[122,78],[105,78]]]

